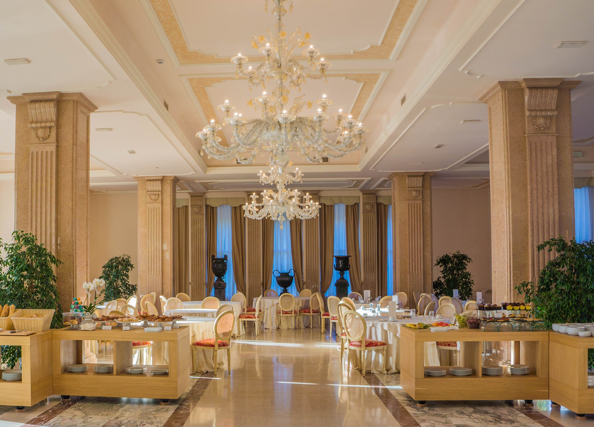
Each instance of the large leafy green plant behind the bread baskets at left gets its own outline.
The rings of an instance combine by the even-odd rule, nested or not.
[[[0,301],[17,308],[53,308],[52,328],[61,327],[62,307],[55,269],[60,262],[35,235],[12,233],[13,243],[0,240]],[[20,346],[2,346],[2,363],[12,368],[21,357]]]

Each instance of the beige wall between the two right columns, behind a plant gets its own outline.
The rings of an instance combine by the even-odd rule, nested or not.
[[[474,290],[491,289],[491,208],[489,187],[432,189],[433,262],[459,250],[472,258]],[[433,279],[440,269],[433,267]]]

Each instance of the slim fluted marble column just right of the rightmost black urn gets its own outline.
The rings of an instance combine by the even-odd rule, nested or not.
[[[371,296],[378,295],[377,271],[377,200],[374,191],[364,191],[363,213],[361,215],[361,264],[363,289],[369,289]]]

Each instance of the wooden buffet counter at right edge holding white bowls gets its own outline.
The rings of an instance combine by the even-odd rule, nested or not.
[[[549,399],[578,415],[594,412],[594,387],[588,387],[588,349],[594,337],[549,333]]]

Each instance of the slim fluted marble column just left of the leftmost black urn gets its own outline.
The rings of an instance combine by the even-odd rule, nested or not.
[[[190,254],[189,297],[192,301],[201,301],[206,297],[206,215],[204,207],[204,193],[189,193],[190,208]]]

